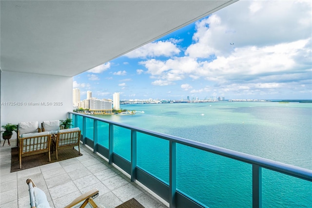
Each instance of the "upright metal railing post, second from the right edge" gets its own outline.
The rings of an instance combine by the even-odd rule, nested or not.
[[[169,204],[176,208],[176,142],[169,142]]]

